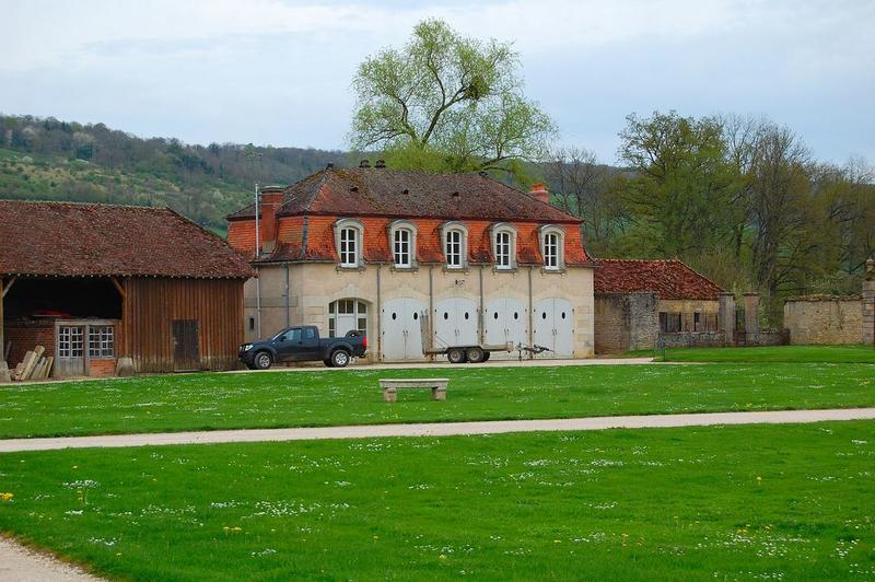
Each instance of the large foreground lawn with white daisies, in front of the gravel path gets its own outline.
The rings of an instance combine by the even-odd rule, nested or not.
[[[0,456],[0,531],[133,580],[875,577],[875,422]]]

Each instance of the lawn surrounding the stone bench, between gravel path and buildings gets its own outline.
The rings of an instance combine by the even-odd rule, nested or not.
[[[381,377],[450,377],[445,403]],[[875,405],[875,364],[598,365],[166,375],[0,388],[0,438]]]

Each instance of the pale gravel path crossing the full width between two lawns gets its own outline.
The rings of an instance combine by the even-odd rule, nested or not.
[[[875,419],[875,408],[774,410],[765,412],[705,412],[691,415],[564,418],[553,420],[420,422],[411,424],[361,424],[296,429],[214,430],[201,432],[161,432],[153,434],[9,439],[0,440],[0,453],[52,451],[58,449],[161,446],[168,444],[311,441],[324,439],[371,439],[382,436],[452,436],[460,434],[498,434],[503,432],[649,429],[705,427],[711,424],[793,423],[868,419]]]

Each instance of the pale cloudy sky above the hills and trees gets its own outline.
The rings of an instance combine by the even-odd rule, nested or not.
[[[0,0],[0,112],[189,143],[345,149],[357,65],[415,23],[513,42],[561,140],[632,112],[766,115],[875,162],[875,1]]]

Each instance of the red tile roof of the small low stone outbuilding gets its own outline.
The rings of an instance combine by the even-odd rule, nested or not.
[[[596,293],[656,292],[660,299],[718,300],[723,289],[682,260],[595,259]]]

